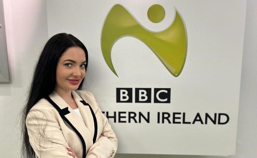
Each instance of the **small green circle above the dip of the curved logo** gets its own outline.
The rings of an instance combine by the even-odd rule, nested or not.
[[[147,17],[151,22],[159,23],[165,17],[165,9],[159,4],[154,4],[149,7],[147,11]]]

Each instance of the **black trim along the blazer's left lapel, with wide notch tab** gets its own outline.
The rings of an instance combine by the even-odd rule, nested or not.
[[[59,112],[60,116],[63,118],[63,120],[65,120],[71,126],[71,128],[76,132],[76,134],[80,138],[82,146],[83,146],[83,158],[86,158],[86,143],[85,143],[85,140],[83,139],[80,132],[78,132],[78,130],[65,117],[66,114],[70,113],[70,111],[68,110],[68,107],[61,109],[49,96],[47,96],[46,99],[58,110],[58,112]]]

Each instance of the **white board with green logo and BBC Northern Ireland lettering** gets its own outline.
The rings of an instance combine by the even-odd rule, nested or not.
[[[117,153],[235,154],[246,1],[226,3],[47,1],[49,37],[87,47]]]

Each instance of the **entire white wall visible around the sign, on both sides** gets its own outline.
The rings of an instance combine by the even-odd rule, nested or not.
[[[41,48],[48,40],[46,1],[4,0],[7,28],[7,47],[11,83],[0,83],[0,157],[20,157],[17,113],[24,101],[24,93],[30,83],[32,69]],[[236,155],[233,158],[257,157],[257,1],[248,0],[245,40],[241,73],[240,103]],[[127,157],[160,158],[214,158],[220,156],[190,155],[133,155]]]

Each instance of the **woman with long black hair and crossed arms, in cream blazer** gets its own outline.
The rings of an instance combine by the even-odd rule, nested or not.
[[[87,49],[76,37],[48,40],[23,109],[22,157],[114,157],[115,133],[93,94],[81,90],[87,65]]]

